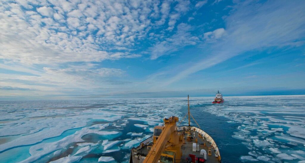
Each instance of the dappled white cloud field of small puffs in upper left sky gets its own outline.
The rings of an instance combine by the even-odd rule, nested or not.
[[[29,65],[139,57],[131,51],[154,28],[153,20],[164,24],[171,8],[165,1],[46,1],[37,9],[1,3],[0,59]],[[161,14],[150,17],[154,4]]]

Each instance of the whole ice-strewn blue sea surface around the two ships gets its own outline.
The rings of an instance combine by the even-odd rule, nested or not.
[[[305,96],[224,99],[190,97],[222,162],[305,162]],[[186,113],[187,98],[0,101],[0,162],[128,162],[164,117]]]

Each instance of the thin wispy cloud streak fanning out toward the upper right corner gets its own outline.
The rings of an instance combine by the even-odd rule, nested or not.
[[[212,67],[243,52],[267,47],[294,46],[305,34],[305,13],[301,1],[265,2],[255,4],[244,2],[236,5],[234,11],[225,19],[227,35],[211,46],[210,55],[179,72],[164,82],[164,86],[181,80],[192,73]],[[272,9],[271,9],[272,8]],[[216,30],[215,30],[216,31]],[[209,39],[218,39],[213,33],[205,35]],[[222,32],[221,32],[222,33]],[[221,34],[222,35],[222,34]]]

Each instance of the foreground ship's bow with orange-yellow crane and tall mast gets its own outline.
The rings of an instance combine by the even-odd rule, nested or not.
[[[220,152],[215,141],[200,129],[190,114],[189,100],[188,113],[185,117],[187,115],[188,126],[177,127],[178,117],[164,118],[163,126],[156,126],[151,137],[131,149],[130,163],[221,162]],[[191,126],[190,116],[199,128]]]

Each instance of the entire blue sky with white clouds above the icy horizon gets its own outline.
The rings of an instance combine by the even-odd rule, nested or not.
[[[0,2],[0,99],[305,94],[305,1]]]

